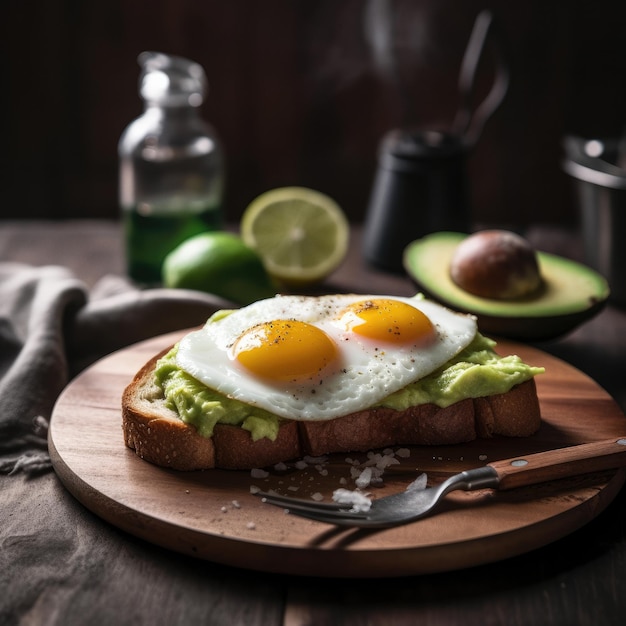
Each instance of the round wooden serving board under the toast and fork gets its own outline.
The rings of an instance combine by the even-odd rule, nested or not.
[[[508,492],[455,493],[432,517],[393,529],[339,530],[264,504],[251,487],[329,500],[346,457],[331,455],[267,477],[248,471],[175,472],[142,461],[124,445],[120,399],[134,373],[182,333],[116,352],[84,371],[63,392],[50,425],[57,474],[87,508],[111,524],[188,555],[267,572],[326,577],[383,577],[446,571],[530,551],[598,515],[624,483],[625,470],[563,479]],[[374,497],[399,491],[421,472],[439,481],[488,461],[626,434],[624,414],[588,376],[544,352],[500,341],[498,350],[542,365],[537,378],[543,425],[525,439],[411,448],[389,468]]]

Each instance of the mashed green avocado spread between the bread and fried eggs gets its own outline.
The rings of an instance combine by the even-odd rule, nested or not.
[[[500,357],[496,343],[479,333],[472,343],[439,370],[397,391],[376,406],[399,411],[433,403],[445,408],[464,400],[506,393],[515,385],[541,374],[542,367],[526,365],[518,356]],[[157,363],[156,382],[167,405],[183,422],[211,437],[215,424],[232,424],[248,430],[253,441],[274,441],[281,418],[238,400],[232,400],[198,382],[176,365],[177,346]]]

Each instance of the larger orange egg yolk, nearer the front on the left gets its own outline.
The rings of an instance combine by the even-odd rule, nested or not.
[[[295,320],[257,324],[233,346],[233,356],[257,376],[298,382],[319,376],[338,356],[335,342],[321,329]]]

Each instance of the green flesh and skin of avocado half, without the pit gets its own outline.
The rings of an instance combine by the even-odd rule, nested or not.
[[[428,297],[457,311],[472,313],[486,334],[521,341],[546,341],[572,331],[599,313],[609,297],[603,276],[585,265],[537,252],[543,287],[530,297],[494,300],[475,296],[450,277],[450,261],[465,233],[438,232],[410,243],[403,262]]]

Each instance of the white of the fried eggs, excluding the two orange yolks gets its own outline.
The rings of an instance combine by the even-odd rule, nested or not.
[[[427,344],[384,345],[337,326],[352,302],[393,299],[420,309],[435,327]],[[336,371],[321,380],[274,384],[251,375],[229,351],[248,328],[277,319],[297,319],[323,329],[340,350]],[[178,366],[208,387],[241,402],[293,420],[328,420],[364,410],[430,374],[472,341],[476,319],[421,297],[376,295],[276,296],[209,319],[179,343]]]

